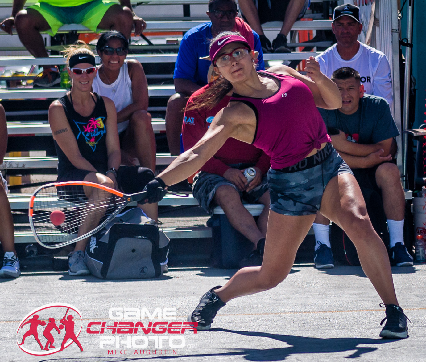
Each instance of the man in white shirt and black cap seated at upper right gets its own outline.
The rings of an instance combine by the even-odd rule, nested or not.
[[[384,53],[358,41],[363,29],[360,8],[352,4],[337,6],[332,29],[337,43],[317,56],[322,73],[331,77],[336,69],[342,67],[357,70],[365,92],[385,98],[392,110],[391,67]]]

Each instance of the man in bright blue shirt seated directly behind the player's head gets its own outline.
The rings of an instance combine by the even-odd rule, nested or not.
[[[265,69],[259,35],[242,19],[235,0],[210,0],[207,15],[211,22],[190,29],[182,38],[173,76],[176,94],[170,97],[166,111],[166,134],[172,155],[180,154],[180,134],[184,108],[188,98],[208,83],[210,60],[200,59],[209,55],[210,40],[221,31],[239,31],[255,51],[259,52],[257,68]],[[250,39],[251,38],[251,39]]]

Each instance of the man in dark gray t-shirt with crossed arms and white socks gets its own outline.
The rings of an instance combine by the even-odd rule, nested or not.
[[[353,68],[339,68],[331,80],[337,84],[343,105],[320,109],[334,148],[354,171],[361,186],[381,191],[389,229],[391,258],[397,266],[413,265],[403,239],[405,195],[400,172],[392,162],[398,128],[384,98],[364,94],[360,74]],[[330,221],[317,214],[314,221],[316,268],[333,268],[328,237]]]

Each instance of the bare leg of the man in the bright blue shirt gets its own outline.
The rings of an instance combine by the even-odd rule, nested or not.
[[[170,154],[177,156],[181,153],[181,133],[184,120],[184,110],[188,97],[175,93],[169,98],[166,109],[166,135]]]

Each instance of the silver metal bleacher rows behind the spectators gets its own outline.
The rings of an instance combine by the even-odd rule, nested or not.
[[[26,6],[32,5],[35,3],[35,0],[27,0]],[[322,2],[320,0],[311,0],[311,3]],[[144,31],[146,37],[155,35],[158,37],[158,34],[165,34],[165,37],[170,37],[170,34],[173,34],[173,37],[181,37],[184,32],[188,31],[192,27],[199,25],[208,21],[208,18],[205,15],[207,8],[208,0],[150,0],[150,1],[132,1],[133,10],[144,18],[147,22],[147,28]],[[325,1],[324,3],[328,2]],[[12,0],[0,0],[0,15],[4,14],[6,17],[10,14],[12,6]],[[158,7],[165,9],[167,7],[168,11],[164,13],[173,14],[168,17],[158,18],[158,14],[164,14],[163,11],[156,10]],[[173,9],[172,9],[173,7]],[[158,8],[159,9],[159,8]],[[176,11],[174,11],[176,9]],[[197,9],[198,14],[197,15]],[[202,9],[202,11],[200,11]],[[194,15],[195,13],[195,15]],[[271,22],[266,23],[263,26],[265,31],[275,31],[278,32],[281,28],[282,23]],[[292,30],[329,30],[331,29],[330,20],[311,20],[311,21],[297,21],[294,24]],[[72,31],[74,33],[88,33],[88,29],[81,25],[70,24],[65,25],[60,28],[60,33],[68,33]],[[48,49],[50,47],[50,37],[47,34],[43,34],[43,37],[46,39],[46,45]],[[39,66],[39,65],[62,65],[65,63],[65,60],[62,56],[52,55],[49,58],[34,58],[28,55],[16,55],[22,50],[22,46],[11,45],[10,39],[16,39],[17,35],[10,37],[9,34],[4,32],[0,33],[0,68],[7,66]],[[7,41],[6,41],[7,40]],[[291,44],[292,46],[298,46],[299,44]],[[164,48],[167,48],[165,46]],[[145,51],[148,49],[148,51]],[[147,64],[173,64],[176,61],[176,45],[170,47],[167,51],[158,51],[161,49],[161,46],[156,45],[137,45],[132,46],[132,53],[129,54],[128,58],[132,58],[141,62],[144,67]],[[167,48],[168,49],[168,48]],[[173,50],[174,49],[174,50]],[[5,52],[8,52],[5,54]],[[19,54],[21,54],[19,53]],[[147,54],[149,53],[149,54]],[[13,54],[13,55],[11,55]],[[306,52],[293,52],[289,54],[264,54],[265,61],[298,61],[307,59],[309,56],[315,56],[319,54],[316,51],[306,51]],[[97,60],[99,61],[99,60]],[[153,129],[156,134],[165,132],[165,122],[164,122],[164,111],[167,104],[167,99],[172,94],[174,94],[175,89],[171,82],[172,74],[147,74],[147,78],[155,80],[158,78],[158,84],[150,84],[148,86],[148,92],[150,97],[150,105],[148,111],[155,113],[153,118]],[[0,78],[3,79],[3,78]],[[24,80],[25,78],[20,77],[18,79]],[[28,79],[28,78],[27,78]],[[169,80],[169,84],[164,82],[164,79]],[[16,80],[11,77],[9,80]],[[153,82],[150,82],[153,83]],[[155,82],[154,82],[155,83]],[[166,83],[166,84],[164,84]],[[51,131],[49,123],[47,122],[47,107],[45,108],[35,108],[32,109],[21,109],[17,106],[17,102],[20,100],[25,100],[25,102],[30,104],[37,104],[42,101],[50,102],[54,99],[61,97],[66,89],[58,88],[49,88],[49,89],[33,89],[33,88],[0,88],[0,101],[2,102],[15,102],[12,104],[9,109],[6,109],[6,117],[9,121],[7,123],[9,137],[51,137]],[[157,114],[162,114],[163,117],[157,117]],[[34,117],[37,115],[37,117]],[[10,120],[13,118],[13,121]],[[11,138],[9,138],[11,140]],[[157,165],[165,166],[168,165],[174,157],[170,154],[157,153],[156,162]],[[6,171],[14,171],[16,173],[18,170],[23,174],[29,173],[35,169],[40,170],[50,170],[54,171],[57,166],[57,157],[55,156],[9,156],[4,158],[4,162],[0,165],[0,171],[3,173]],[[10,193],[9,202],[13,211],[24,212],[28,208],[30,194],[28,193]],[[177,197],[173,195],[166,195],[166,197],[159,203],[159,206],[176,206],[176,205],[198,205],[198,202],[188,195],[187,197]],[[220,210],[218,211],[220,212]],[[188,237],[211,237],[211,230],[208,227],[197,227],[197,228],[164,228],[165,233],[171,239],[179,238],[188,238]],[[17,243],[30,243],[34,242],[34,238],[29,230],[16,228],[15,230],[15,242]]]

